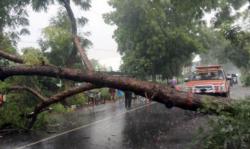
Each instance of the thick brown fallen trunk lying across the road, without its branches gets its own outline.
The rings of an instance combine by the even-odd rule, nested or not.
[[[186,92],[177,92],[174,89],[157,83],[139,81],[132,78],[110,76],[102,73],[86,72],[77,69],[62,69],[51,66],[13,66],[3,67],[0,70],[0,79],[11,76],[38,75],[68,79],[79,82],[89,82],[100,87],[129,90],[137,95],[151,97],[152,100],[163,103],[168,107],[176,106],[187,110],[204,108],[208,102],[212,103],[211,111],[216,112],[218,107],[230,111],[230,102],[226,98],[215,98],[200,95],[192,95]]]

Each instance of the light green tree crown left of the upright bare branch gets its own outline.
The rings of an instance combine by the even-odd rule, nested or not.
[[[81,66],[80,57],[72,43],[71,23],[67,13],[63,10],[51,19],[50,25],[43,29],[40,46],[51,64],[57,66]],[[88,47],[91,42],[81,38],[83,47]]]

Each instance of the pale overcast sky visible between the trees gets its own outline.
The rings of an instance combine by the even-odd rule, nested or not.
[[[118,70],[121,64],[121,56],[117,52],[117,44],[112,38],[115,26],[104,23],[102,15],[111,12],[112,8],[108,5],[108,0],[92,1],[92,8],[89,11],[81,11],[72,6],[76,16],[83,15],[89,19],[88,24],[84,28],[80,28],[84,32],[90,32],[88,37],[93,46],[87,49],[90,59],[98,60],[102,65],[112,67]],[[23,36],[18,44],[18,49],[24,47],[38,47],[37,41],[41,38],[42,29],[49,25],[51,17],[56,16],[58,5],[52,5],[47,12],[36,13],[31,8],[28,9],[30,20],[30,35]],[[84,14],[83,14],[84,13]]]

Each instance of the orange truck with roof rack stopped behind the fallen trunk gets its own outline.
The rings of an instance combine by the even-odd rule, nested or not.
[[[230,80],[220,65],[196,67],[185,82],[185,91],[194,94],[230,96]]]

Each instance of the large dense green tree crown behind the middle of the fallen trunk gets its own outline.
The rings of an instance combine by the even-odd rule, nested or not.
[[[180,74],[183,66],[191,62],[193,53],[203,50],[196,34],[196,11],[192,11],[198,11],[196,4],[201,3],[190,5],[186,12],[189,3],[111,0],[115,11],[106,14],[105,20],[118,27],[114,37],[123,54],[121,69],[140,77],[170,78]],[[200,10],[198,13],[201,15]]]

